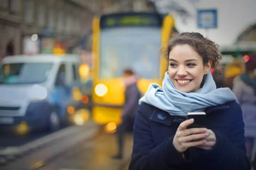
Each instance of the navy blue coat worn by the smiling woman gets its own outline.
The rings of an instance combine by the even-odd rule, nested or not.
[[[212,150],[190,147],[183,159],[172,144],[186,118],[142,103],[134,122],[134,145],[129,170],[250,170],[246,156],[241,107],[235,101],[209,107],[206,127],[216,136]]]

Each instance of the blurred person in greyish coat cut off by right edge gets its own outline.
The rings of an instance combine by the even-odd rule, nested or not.
[[[247,156],[251,160],[256,138],[256,57],[245,63],[245,73],[233,82],[233,92],[241,105],[244,118]],[[254,161],[256,163],[256,160]]]

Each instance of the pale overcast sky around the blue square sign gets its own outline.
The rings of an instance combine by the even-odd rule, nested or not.
[[[156,1],[160,4],[169,0]],[[186,24],[175,17],[178,31],[200,32],[220,45],[232,44],[245,28],[256,23],[256,0],[198,0],[195,7],[188,0],[174,1],[192,14]],[[206,34],[204,29],[197,28],[197,9],[210,8],[218,10],[218,28],[209,29]]]

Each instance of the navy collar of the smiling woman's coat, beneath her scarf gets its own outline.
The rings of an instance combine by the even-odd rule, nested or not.
[[[220,111],[228,109],[227,105],[211,106],[205,109],[205,113],[211,113],[213,111]],[[181,123],[186,120],[186,117],[171,116],[168,112],[163,111],[159,108],[155,108],[153,114],[150,117],[150,122],[157,123],[160,125],[171,126],[172,123]]]

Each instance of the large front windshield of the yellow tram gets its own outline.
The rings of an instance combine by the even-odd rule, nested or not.
[[[101,32],[99,77],[121,77],[132,68],[145,79],[159,78],[160,28],[112,28]]]

